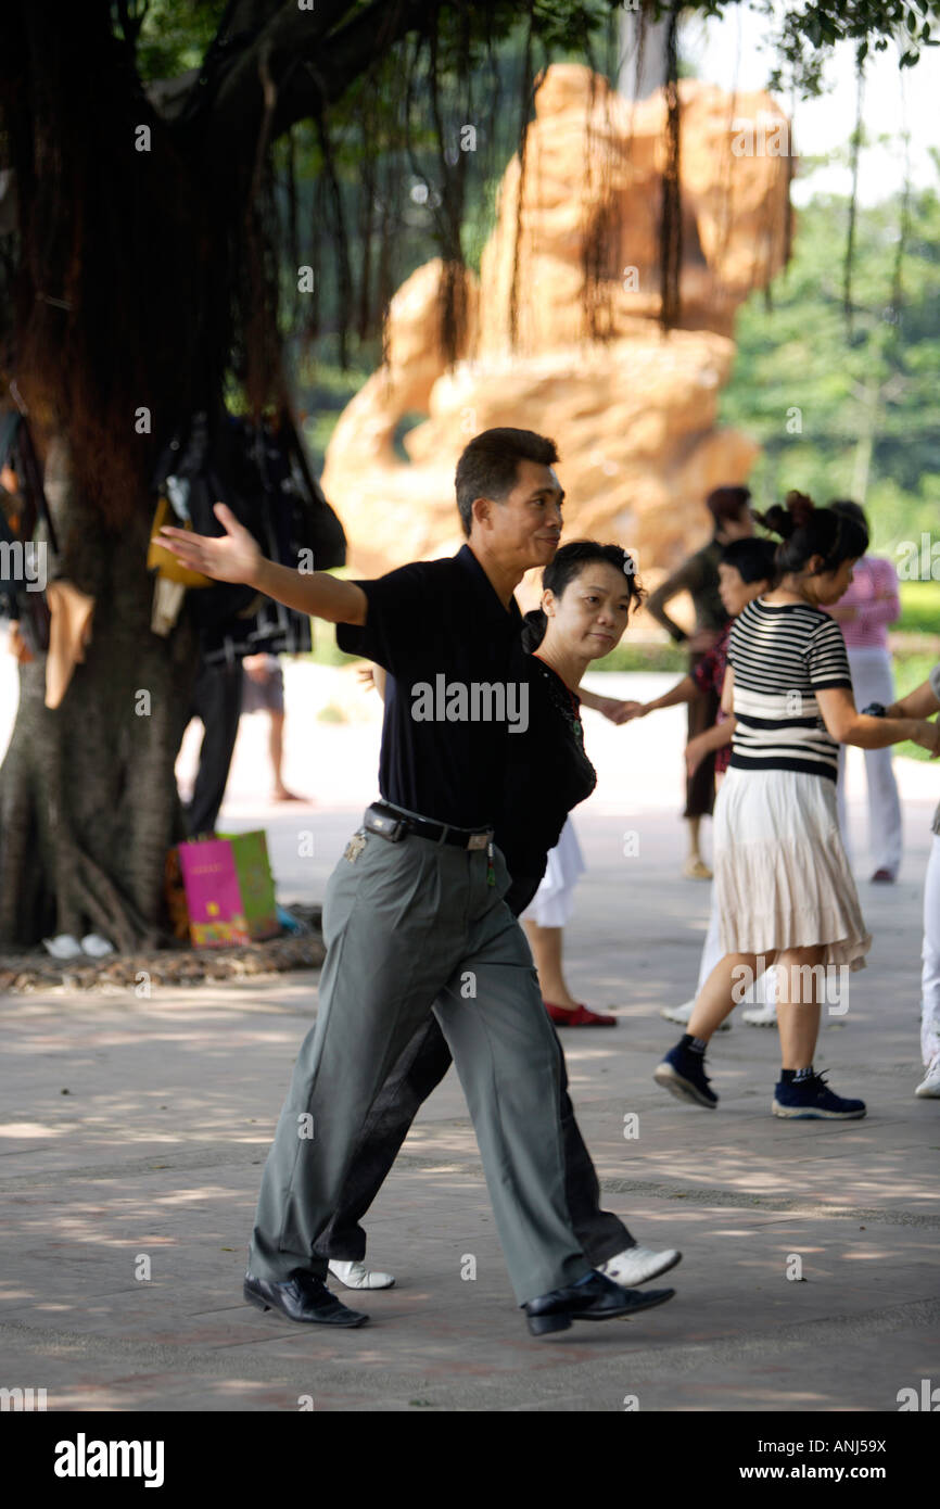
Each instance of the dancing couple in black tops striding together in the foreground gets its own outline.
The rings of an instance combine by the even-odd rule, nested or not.
[[[373,581],[273,564],[222,504],[223,536],[161,530],[161,543],[184,564],[339,625],[339,646],[386,673],[382,800],[368,807],[326,889],[317,1023],[264,1168],[244,1280],[249,1302],[291,1320],[367,1319],[327,1290],[336,1251],[323,1251],[323,1236],[339,1215],[349,1227],[352,1213],[355,1227],[364,1195],[407,1132],[409,1106],[416,1109],[422,1086],[447,1068],[436,1034],[466,1094],[530,1331],[616,1319],[673,1296],[632,1284],[679,1254],[638,1248],[599,1210],[560,1043],[516,920],[569,807],[594,785],[578,715],[581,675],[619,643],[638,601],[632,561],[617,546],[558,551],[555,462],[554,442],[530,430],[478,435],[456,475],[466,545],[450,560]],[[552,561],[545,635],[530,656],[513,592],[528,569]],[[415,720],[410,688],[436,685],[438,676],[445,685],[525,691],[527,732],[495,720]],[[403,1085],[410,1102],[395,1105]],[[601,1263],[608,1271],[613,1263],[614,1277]]]

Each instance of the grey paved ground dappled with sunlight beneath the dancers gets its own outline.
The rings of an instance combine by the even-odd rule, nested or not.
[[[652,696],[670,681],[616,687]],[[368,702],[353,721],[324,723],[312,688],[288,678],[285,774],[317,804],[260,798],[269,777],[255,717],[223,813],[223,827],[267,828],[282,899],[323,895],[374,792]],[[869,1102],[868,1120],[782,1123],[770,1115],[773,1029],[736,1020],[715,1040],[717,1112],[679,1105],[650,1077],[677,1035],[659,1008],[693,990],[709,901],[708,884],[679,877],[680,714],[634,729],[590,714],[587,744],[601,780],[578,813],[588,872],[569,973],[578,997],[613,1007],[619,1026],[566,1034],[572,1096],[605,1204],[646,1245],[682,1248],[665,1280],[676,1298],[635,1320],[530,1338],[451,1071],[368,1221],[370,1254],[397,1287],[343,1292],[371,1323],[335,1335],[261,1314],[241,1301],[244,1246],[317,975],[149,999],[6,996],[0,1385],[42,1387],[48,1409],[65,1411],[296,1411],[306,1397],[332,1411],[786,1412],[896,1411],[901,1388],[938,1376],[940,1103],[913,1088],[940,771],[899,762],[902,877],[868,884],[860,851],[871,967],[821,1035],[818,1067]],[[192,753],[190,741],[184,780]],[[631,1115],[635,1138],[625,1136]]]

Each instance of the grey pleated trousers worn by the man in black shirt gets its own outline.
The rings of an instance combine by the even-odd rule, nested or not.
[[[368,1111],[398,1055],[435,1013],[454,1056],[480,1145],[516,1299],[590,1272],[564,1192],[558,1041],[533,957],[502,901],[495,851],[367,833],[341,859],[323,904],[327,946],[308,1032],[267,1156],[249,1271],[326,1278],[314,1251],[329,1224]]]

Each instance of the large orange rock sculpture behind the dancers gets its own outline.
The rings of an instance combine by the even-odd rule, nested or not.
[[[664,335],[656,323],[662,91],[631,104],[590,69],[555,65],[536,94],[522,204],[513,157],[480,281],[465,276],[460,359],[447,370],[435,260],[395,294],[388,365],[336,424],[323,484],[353,569],[374,575],[456,549],[457,457],[498,424],[557,441],[567,539],[617,540],[652,582],[708,537],[705,495],[745,481],[757,454],[717,427],[717,407],[735,309],[785,261],[791,163],[773,149],[789,140],[770,95],[682,80],[679,97],[680,327]],[[401,462],[395,432],[415,412],[427,418],[404,435]]]

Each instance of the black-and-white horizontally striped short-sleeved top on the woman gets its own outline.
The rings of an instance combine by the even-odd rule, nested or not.
[[[839,744],[827,732],[816,693],[852,678],[842,631],[803,602],[748,602],[727,652],[735,667],[732,767],[797,770],[836,780]]]

